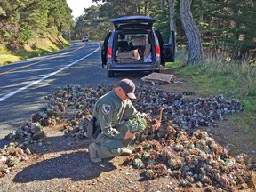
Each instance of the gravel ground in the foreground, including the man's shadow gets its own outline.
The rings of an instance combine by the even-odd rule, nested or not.
[[[140,170],[123,165],[125,156],[92,164],[87,149],[91,141],[65,138],[59,127],[45,129],[44,145],[30,147],[34,155],[0,179],[0,191],[156,191],[156,188],[166,191],[177,188],[177,180],[170,178],[145,180]]]

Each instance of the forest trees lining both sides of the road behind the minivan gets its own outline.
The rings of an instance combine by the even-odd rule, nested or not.
[[[84,0],[85,1],[85,0]],[[61,35],[67,40],[104,40],[108,30],[113,28],[109,20],[125,15],[148,15],[157,19],[159,28],[167,43],[170,39],[170,5],[174,15],[171,22],[177,35],[177,45],[188,45],[180,20],[178,0],[94,0],[102,3],[84,9],[84,14],[72,19],[72,10],[66,0],[1,0],[0,1],[0,44],[9,51],[20,51],[26,44],[36,49],[36,41]],[[199,28],[204,52],[221,60],[244,60],[255,57],[256,1],[255,0],[189,0],[191,12]],[[61,42],[61,41],[60,41]],[[60,44],[60,42],[57,44]],[[26,46],[25,46],[26,47]],[[5,51],[7,51],[5,50]],[[36,50],[35,50],[36,51]],[[41,53],[44,50],[41,50]],[[38,50],[37,50],[38,52]],[[35,52],[36,53],[36,52]],[[221,54],[221,57],[220,57]],[[22,56],[22,55],[21,55]]]

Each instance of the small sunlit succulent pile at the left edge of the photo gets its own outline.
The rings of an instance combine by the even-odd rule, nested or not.
[[[10,172],[14,166],[28,159],[31,152],[18,143],[10,143],[0,149],[0,178]]]

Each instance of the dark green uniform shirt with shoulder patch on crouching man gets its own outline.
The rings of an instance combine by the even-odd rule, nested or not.
[[[111,91],[103,95],[95,104],[92,117],[96,117],[96,126],[100,126],[101,132],[108,137],[123,140],[126,132],[115,129],[120,124],[122,117],[131,118],[137,114],[131,100],[121,100],[116,92]]]

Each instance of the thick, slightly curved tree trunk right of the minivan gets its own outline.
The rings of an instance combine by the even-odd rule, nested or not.
[[[203,58],[203,46],[199,29],[192,16],[192,0],[180,0],[180,19],[188,39],[188,60],[187,63],[196,64]]]

